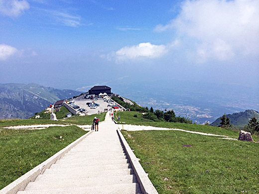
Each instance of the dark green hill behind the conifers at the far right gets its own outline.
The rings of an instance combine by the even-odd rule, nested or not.
[[[234,114],[226,114],[226,116],[230,119],[230,123],[238,126],[238,127],[244,127],[248,124],[249,120],[256,116],[259,118],[259,112],[256,110],[246,110],[245,112],[238,112]],[[211,123],[211,126],[219,126],[221,122],[221,119],[218,118],[213,123]]]

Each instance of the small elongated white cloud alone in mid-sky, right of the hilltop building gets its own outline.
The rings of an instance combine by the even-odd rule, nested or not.
[[[164,45],[154,45],[149,42],[139,43],[131,47],[123,47],[116,52],[119,60],[137,59],[137,58],[157,58],[167,52]]]

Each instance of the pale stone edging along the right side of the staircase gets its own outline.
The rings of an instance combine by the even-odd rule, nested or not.
[[[145,173],[144,169],[138,162],[138,159],[136,158],[135,154],[132,152],[131,148],[129,147],[129,144],[127,143],[126,139],[124,138],[122,132],[117,129],[117,133],[119,135],[119,138],[122,142],[122,145],[125,149],[125,152],[127,153],[128,159],[131,164],[131,168],[134,171],[134,174],[137,178],[137,182],[139,183],[141,193],[142,194],[158,194],[156,189],[154,188],[153,184],[151,183],[150,179],[148,178],[147,174]]]

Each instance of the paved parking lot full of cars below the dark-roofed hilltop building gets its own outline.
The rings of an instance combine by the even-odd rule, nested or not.
[[[75,98],[75,104],[80,106],[80,108],[85,108],[86,110],[88,110],[87,114],[90,115],[90,114],[96,114],[98,113],[98,111],[101,112],[104,112],[105,109],[110,109],[111,106],[108,106],[108,103],[106,101],[104,101],[103,98],[97,98],[97,99],[94,99],[94,100],[91,100],[91,99],[85,99],[83,97],[78,97],[78,98]],[[90,108],[86,103],[87,102],[93,102],[94,103],[98,103],[100,104],[100,106],[97,106],[96,108]]]

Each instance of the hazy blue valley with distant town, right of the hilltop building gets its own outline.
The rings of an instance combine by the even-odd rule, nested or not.
[[[196,123],[212,123],[224,113],[259,110],[257,88],[179,80],[127,82],[109,85],[112,91],[154,109],[174,109],[177,116]]]

